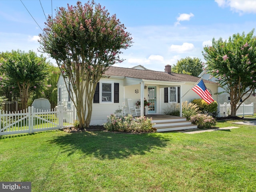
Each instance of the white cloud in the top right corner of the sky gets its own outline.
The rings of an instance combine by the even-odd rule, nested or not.
[[[254,0],[215,0],[219,7],[230,7],[230,10],[240,15],[244,13],[256,13],[256,1]]]

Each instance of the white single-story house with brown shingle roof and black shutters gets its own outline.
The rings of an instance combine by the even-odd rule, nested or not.
[[[146,98],[150,102],[146,112],[148,114],[164,114],[168,103],[181,103],[186,100],[191,102],[195,98],[200,98],[191,90],[200,78],[172,73],[170,65],[165,66],[164,72],[148,70],[143,66],[110,67],[105,75],[109,78],[100,80],[94,94],[91,125],[106,122],[108,115],[122,108],[122,103],[128,106],[128,98],[133,100],[134,105],[138,100]],[[204,80],[204,83],[211,90],[214,100],[217,100],[218,84],[208,80]],[[59,104],[69,108],[72,106],[68,96],[68,91],[72,91],[70,86],[66,88],[62,76],[57,85]],[[126,113],[129,113],[128,107]]]

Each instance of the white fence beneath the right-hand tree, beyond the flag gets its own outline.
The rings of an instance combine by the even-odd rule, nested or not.
[[[236,105],[238,107],[238,105]],[[230,103],[218,104],[218,116],[219,117],[227,117],[231,112],[231,105]],[[240,107],[236,110],[236,115],[253,115],[254,114],[254,106],[253,103],[251,104],[244,104],[242,103]]]

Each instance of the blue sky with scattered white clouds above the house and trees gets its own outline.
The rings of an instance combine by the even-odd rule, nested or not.
[[[38,26],[34,19],[38,23]],[[0,52],[34,50],[48,14],[58,7],[75,5],[76,0],[0,0]],[[82,0],[82,4],[87,0]],[[200,58],[212,38],[227,39],[256,28],[254,0],[95,0],[116,14],[133,38],[123,50],[125,61],[116,66],[142,65],[164,71],[186,57]],[[42,7],[41,7],[41,4]],[[53,9],[52,9],[53,8]],[[44,10],[44,12],[43,12]],[[44,16],[46,14],[46,18]],[[38,52],[38,54],[41,54]],[[44,56],[47,56],[44,54]],[[54,60],[49,60],[55,63]]]

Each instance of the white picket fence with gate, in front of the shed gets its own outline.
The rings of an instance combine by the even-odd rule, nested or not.
[[[50,111],[38,111],[34,107],[28,107],[23,112],[0,110],[0,135],[61,129],[72,126],[75,119],[74,106],[71,110],[63,105],[58,105]]]

